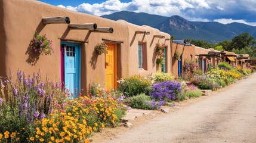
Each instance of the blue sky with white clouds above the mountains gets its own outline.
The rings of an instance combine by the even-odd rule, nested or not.
[[[39,0],[57,7],[92,15],[118,11],[180,15],[190,21],[232,22],[256,26],[255,0]]]

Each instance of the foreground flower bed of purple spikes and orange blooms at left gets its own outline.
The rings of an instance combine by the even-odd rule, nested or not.
[[[69,95],[60,83],[42,82],[40,74],[17,82],[0,78],[0,142],[79,142],[104,126],[116,126],[127,106],[116,94]]]

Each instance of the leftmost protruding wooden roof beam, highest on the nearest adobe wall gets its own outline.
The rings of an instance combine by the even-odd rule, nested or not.
[[[60,23],[64,23],[64,24],[69,24],[70,23],[70,19],[69,17],[45,17],[42,18],[42,22],[44,24],[60,24]]]

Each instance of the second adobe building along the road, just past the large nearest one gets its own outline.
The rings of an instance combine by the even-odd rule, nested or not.
[[[175,59],[175,53],[180,54],[180,60]],[[175,41],[171,43],[172,75],[182,76],[182,69],[185,61],[195,60],[195,45],[184,41]]]

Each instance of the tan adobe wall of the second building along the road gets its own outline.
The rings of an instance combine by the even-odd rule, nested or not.
[[[186,60],[195,60],[195,45],[185,46],[178,43],[171,44],[172,49],[172,74],[178,77],[178,61],[174,60],[175,51],[177,50],[182,55],[182,66]]]

